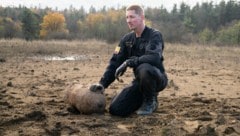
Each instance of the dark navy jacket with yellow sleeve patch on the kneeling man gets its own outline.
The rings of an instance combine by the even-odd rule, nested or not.
[[[141,37],[136,38],[134,32],[126,34],[115,50],[109,65],[100,80],[100,83],[107,88],[115,80],[116,69],[132,56],[138,57],[139,65],[149,63],[165,72],[162,64],[164,42],[162,34],[149,27],[145,27]],[[135,68],[134,68],[135,69]]]

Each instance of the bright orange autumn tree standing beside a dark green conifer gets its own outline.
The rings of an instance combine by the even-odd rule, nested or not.
[[[43,23],[40,26],[40,37],[42,38],[60,39],[66,38],[68,34],[65,17],[60,13],[48,13],[43,17]]]

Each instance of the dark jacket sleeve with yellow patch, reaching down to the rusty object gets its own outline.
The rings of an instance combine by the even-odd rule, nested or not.
[[[105,73],[100,79],[100,84],[107,88],[115,80],[116,69],[126,60],[127,49],[122,39],[112,55]]]

